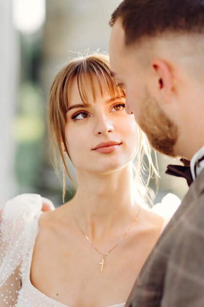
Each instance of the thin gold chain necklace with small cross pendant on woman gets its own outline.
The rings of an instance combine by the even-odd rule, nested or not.
[[[74,214],[74,210],[73,210],[73,206],[71,204],[71,209],[72,209],[72,214],[73,214],[73,217],[74,217],[74,221],[78,227],[78,229],[83,233],[83,235],[85,236],[85,238],[89,241],[89,243],[91,244],[91,246],[94,248],[94,250],[99,253],[101,256],[102,256],[102,260],[101,262],[99,262],[99,264],[101,264],[101,271],[103,271],[104,269],[104,265],[106,265],[105,263],[105,259],[106,259],[106,256],[109,255],[109,253],[111,253],[113,251],[113,249],[118,245],[120,244],[120,242],[124,239],[124,237],[126,236],[126,234],[128,233],[128,231],[133,227],[133,225],[136,223],[137,219],[138,219],[138,216],[139,216],[139,212],[140,212],[140,208],[141,208],[141,205],[139,206],[139,209],[138,209],[138,212],[137,212],[137,215],[136,215],[136,218],[134,219],[133,223],[130,225],[130,227],[128,228],[128,230],[126,230],[126,232],[121,236],[121,238],[119,239],[119,241],[117,241],[117,243],[106,253],[106,254],[102,254],[101,252],[99,252],[97,250],[97,248],[93,245],[93,243],[91,242],[90,238],[86,235],[86,233],[81,229],[81,227],[79,226],[79,223],[75,217],[75,214]]]

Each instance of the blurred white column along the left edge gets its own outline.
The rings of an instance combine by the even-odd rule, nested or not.
[[[0,0],[0,207],[15,194],[13,127],[18,54],[12,0]]]

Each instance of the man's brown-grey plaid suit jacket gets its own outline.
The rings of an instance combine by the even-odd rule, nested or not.
[[[204,307],[204,170],[146,260],[125,307]]]

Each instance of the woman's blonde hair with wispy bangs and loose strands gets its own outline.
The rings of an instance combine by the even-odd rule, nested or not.
[[[48,104],[48,127],[53,149],[54,166],[55,170],[58,171],[58,148],[68,177],[72,180],[72,182],[73,179],[68,171],[64,151],[70,158],[68,144],[65,137],[65,126],[66,113],[69,105],[69,93],[74,77],[77,78],[79,94],[85,105],[88,101],[88,86],[89,89],[91,88],[94,101],[96,99],[96,85],[98,85],[102,97],[104,92],[108,92],[111,96],[125,96],[125,91],[121,87],[117,86],[111,75],[109,57],[106,54],[93,53],[86,56],[79,56],[71,60],[55,77],[50,89]],[[145,167],[142,163],[143,156],[146,154],[149,163],[149,175],[147,183],[143,181],[143,184],[147,187],[152,175],[154,173],[158,175],[158,172],[151,158],[151,148],[147,141],[146,135],[140,128],[138,128],[138,144],[135,176],[141,176],[141,173]]]

